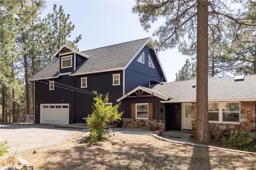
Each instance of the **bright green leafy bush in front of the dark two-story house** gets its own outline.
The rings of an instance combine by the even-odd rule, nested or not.
[[[87,125],[91,131],[89,143],[104,140],[107,134],[107,125],[121,120],[123,114],[123,112],[118,113],[120,104],[115,106],[106,105],[106,103],[108,103],[108,95],[102,99],[102,95],[98,95],[97,91],[93,92],[97,96],[94,97],[93,112],[87,118]]]

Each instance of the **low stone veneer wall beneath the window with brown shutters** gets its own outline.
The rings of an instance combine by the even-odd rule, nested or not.
[[[140,128],[150,130],[150,126],[158,127],[159,130],[165,130],[164,120],[146,120],[136,118],[123,118],[123,128]]]

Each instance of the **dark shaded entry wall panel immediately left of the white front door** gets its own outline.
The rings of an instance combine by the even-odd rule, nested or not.
[[[181,130],[181,103],[165,104],[165,130]]]

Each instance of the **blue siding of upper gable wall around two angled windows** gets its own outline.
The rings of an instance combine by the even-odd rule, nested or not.
[[[145,53],[145,64],[137,61],[143,52]],[[148,55],[150,55],[155,69],[148,66]],[[162,78],[165,81],[155,53],[144,47],[125,69],[125,94],[138,86],[148,87],[150,81],[162,82]]]

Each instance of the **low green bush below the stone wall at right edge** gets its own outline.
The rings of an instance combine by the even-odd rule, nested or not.
[[[227,134],[222,138],[222,145],[232,149],[242,149],[246,151],[256,151],[253,138],[246,136],[242,130],[233,131],[228,129]]]

